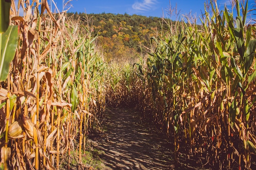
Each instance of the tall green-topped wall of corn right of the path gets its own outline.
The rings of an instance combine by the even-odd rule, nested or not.
[[[219,169],[255,161],[256,27],[247,24],[248,1],[235,4],[220,11],[212,1],[200,25],[167,23],[135,64],[137,103],[174,144],[176,163],[180,150]]]

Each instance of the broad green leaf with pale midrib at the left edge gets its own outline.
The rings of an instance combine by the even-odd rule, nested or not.
[[[5,33],[0,33],[0,82],[7,78],[9,64],[13,60],[18,46],[18,26],[9,26]]]

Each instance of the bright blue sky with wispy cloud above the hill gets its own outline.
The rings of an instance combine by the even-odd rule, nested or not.
[[[200,16],[201,10],[204,11],[204,2],[207,0],[171,0],[171,8],[177,4],[177,10],[181,14],[192,13]],[[218,6],[223,9],[225,4],[229,9],[231,0],[217,0]],[[50,2],[50,0],[48,0]],[[60,11],[62,11],[63,0],[54,0]],[[65,0],[67,2],[67,0]],[[249,9],[252,9],[255,0],[249,0]],[[129,15],[138,14],[145,16],[168,17],[168,9],[170,9],[169,0],[72,0],[70,12],[85,12],[86,13],[115,13]],[[67,9],[67,8],[65,8]],[[254,11],[254,13],[256,13]],[[173,18],[175,19],[175,18]]]

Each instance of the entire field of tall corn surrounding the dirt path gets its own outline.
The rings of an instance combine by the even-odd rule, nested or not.
[[[136,104],[174,145],[177,164],[180,152],[219,169],[249,170],[256,160],[256,27],[247,24],[247,1],[236,0],[237,16],[211,1],[200,25],[168,22],[135,64],[104,62],[91,18],[82,25],[51,13],[47,0],[1,3],[18,43],[6,47],[14,57],[0,77],[0,169],[70,169],[72,152],[88,169],[88,132],[105,107]]]

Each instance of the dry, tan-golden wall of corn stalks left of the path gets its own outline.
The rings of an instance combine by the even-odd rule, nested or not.
[[[10,4],[19,40],[0,88],[0,169],[70,169],[74,152],[86,169],[87,134],[105,107],[106,64],[93,28],[52,14],[47,0]]]

